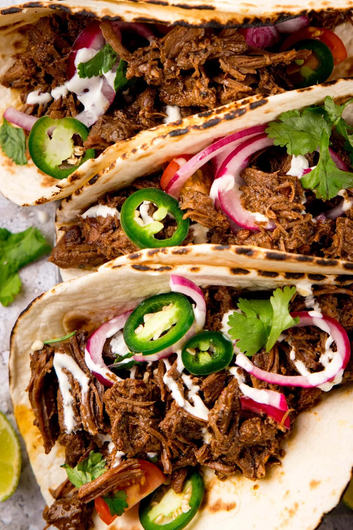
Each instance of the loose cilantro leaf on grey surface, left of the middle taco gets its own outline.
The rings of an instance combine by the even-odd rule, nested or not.
[[[50,252],[44,236],[38,228],[27,228],[24,232],[12,234],[0,228],[0,303],[4,306],[13,302],[21,288],[17,271]]]

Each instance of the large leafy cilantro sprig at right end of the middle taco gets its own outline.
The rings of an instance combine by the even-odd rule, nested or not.
[[[290,155],[306,155],[319,148],[318,165],[301,180],[303,187],[313,190],[319,199],[332,199],[341,189],[353,186],[353,173],[338,169],[329,152],[332,130],[336,128],[345,138],[344,147],[353,160],[353,127],[342,118],[343,111],[352,102],[353,98],[337,105],[327,96],[321,106],[308,107],[302,112],[283,112],[278,121],[268,123],[266,128],[274,145],[286,147]]]

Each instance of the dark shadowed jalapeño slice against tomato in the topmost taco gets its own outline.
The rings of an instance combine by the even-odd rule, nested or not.
[[[295,60],[287,66],[286,73],[296,88],[317,85],[326,81],[333,70],[330,48],[320,40],[305,39],[293,46],[296,50],[311,50],[306,60]]]

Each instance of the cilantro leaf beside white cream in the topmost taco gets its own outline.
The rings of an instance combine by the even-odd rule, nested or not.
[[[126,79],[126,69],[128,63],[119,58],[119,55],[113,50],[110,44],[106,44],[101,48],[97,54],[89,59],[86,63],[79,63],[77,66],[78,76],[81,78],[93,76],[102,76],[113,69],[117,61],[116,74],[114,78],[114,90],[117,92],[129,83]]]

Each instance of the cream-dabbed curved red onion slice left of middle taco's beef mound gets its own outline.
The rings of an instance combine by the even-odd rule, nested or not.
[[[219,178],[213,181],[210,196],[218,198],[224,214],[236,226],[258,231],[259,226],[255,222],[263,221],[266,222],[265,228],[269,230],[275,228],[275,224],[267,217],[246,210],[241,206],[242,192],[239,189],[244,184],[240,173],[247,167],[251,155],[271,145],[273,145],[273,139],[268,138],[266,133],[245,140],[224,160]]]

